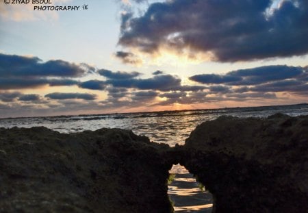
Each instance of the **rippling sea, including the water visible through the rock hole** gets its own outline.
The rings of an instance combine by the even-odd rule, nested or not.
[[[176,144],[183,145],[185,139],[190,136],[190,132],[197,125],[219,116],[266,118],[277,113],[290,116],[308,115],[308,104],[221,108],[215,110],[1,118],[0,127],[44,126],[61,133],[96,130],[104,127],[129,129],[135,134],[149,137],[153,142],[166,143],[170,147],[174,147]],[[196,179],[189,171],[177,164],[172,167],[170,173],[175,174],[174,181],[168,186],[168,195],[175,212],[211,212],[211,194],[200,190]],[[184,195],[186,196],[185,199],[183,199]]]

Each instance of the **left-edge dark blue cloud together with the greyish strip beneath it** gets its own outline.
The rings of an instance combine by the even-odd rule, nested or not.
[[[88,64],[74,64],[63,60],[42,62],[37,57],[0,53],[0,89],[38,88],[41,86],[73,86],[76,77],[93,73]]]

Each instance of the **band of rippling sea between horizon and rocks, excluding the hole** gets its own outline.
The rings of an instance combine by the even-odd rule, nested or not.
[[[290,116],[307,115],[308,104],[217,110],[1,118],[0,127],[44,126],[62,133],[96,130],[103,127],[130,129],[135,134],[149,137],[153,142],[166,143],[174,147],[176,144],[183,145],[197,125],[218,118],[218,116],[266,117],[279,112]]]

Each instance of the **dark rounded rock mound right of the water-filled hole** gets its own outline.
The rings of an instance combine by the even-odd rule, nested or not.
[[[213,212],[308,212],[308,116],[207,121],[181,164],[213,194]]]

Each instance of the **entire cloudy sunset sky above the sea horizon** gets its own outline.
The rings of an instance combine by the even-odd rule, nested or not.
[[[306,0],[3,0],[0,117],[307,103]]]

